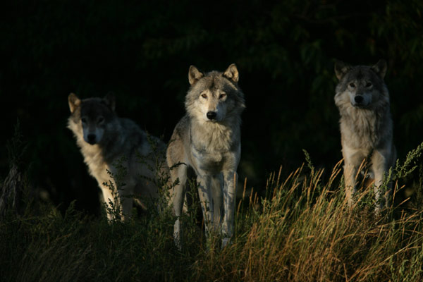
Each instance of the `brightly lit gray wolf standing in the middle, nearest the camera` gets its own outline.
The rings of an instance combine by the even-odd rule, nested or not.
[[[197,175],[198,192],[206,231],[221,231],[222,247],[233,234],[236,170],[240,161],[240,115],[244,94],[238,87],[238,69],[202,73],[190,66],[190,90],[185,97],[185,116],[178,122],[166,152],[173,187],[171,203],[177,216],[174,238],[180,248],[180,216],[183,212],[188,168]]]

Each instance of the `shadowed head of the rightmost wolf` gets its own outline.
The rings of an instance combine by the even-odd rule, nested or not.
[[[359,109],[370,109],[386,96],[384,85],[386,61],[380,60],[374,66],[350,66],[336,61],[335,74],[339,82],[336,86],[335,102],[349,99],[351,105]],[[384,97],[386,98],[386,97]]]

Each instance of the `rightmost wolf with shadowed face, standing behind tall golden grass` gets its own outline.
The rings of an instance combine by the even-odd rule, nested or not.
[[[360,165],[364,159],[369,160],[369,175],[374,178],[376,214],[384,205],[388,207],[390,204],[391,183],[384,195],[381,184],[396,161],[389,92],[384,83],[386,68],[384,60],[374,66],[335,63],[339,81],[334,99],[341,115],[345,194],[351,207]]]

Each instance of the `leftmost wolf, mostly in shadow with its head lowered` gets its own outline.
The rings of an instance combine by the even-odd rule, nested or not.
[[[166,149],[164,142],[147,135],[134,121],[119,118],[113,94],[81,100],[71,93],[68,104],[71,109],[68,128],[75,135],[88,171],[102,190],[108,211],[114,208],[122,221],[128,219],[133,206],[130,195],[139,195],[135,202],[147,209],[145,201],[158,197],[157,185],[152,179],[158,170],[167,167],[163,156],[164,166],[151,169],[154,160],[150,158],[160,158],[159,151]],[[155,151],[152,146],[157,146]],[[111,175],[116,176],[119,167],[125,170],[125,176],[116,183]],[[115,218],[111,212],[107,212],[107,217]]]

